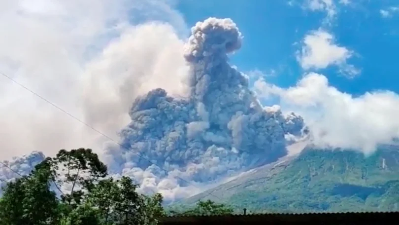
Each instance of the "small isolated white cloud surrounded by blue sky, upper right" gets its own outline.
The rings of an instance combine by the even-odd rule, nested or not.
[[[360,73],[346,62],[352,57],[353,51],[334,43],[332,34],[320,29],[312,31],[303,38],[302,44],[297,59],[303,69],[325,69],[334,65],[351,77]]]

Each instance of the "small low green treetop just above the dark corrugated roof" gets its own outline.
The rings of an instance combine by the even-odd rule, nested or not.
[[[213,215],[228,215],[233,213],[233,208],[225,204],[216,204],[211,200],[199,201],[193,209],[183,212],[182,216],[213,216]]]

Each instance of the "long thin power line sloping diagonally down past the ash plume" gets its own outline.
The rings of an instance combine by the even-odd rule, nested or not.
[[[3,75],[3,76],[5,76],[7,79],[11,80],[12,82],[18,84],[20,87],[24,88],[25,90],[31,92],[31,93],[32,93],[33,95],[35,95],[36,97],[40,98],[41,100],[45,101],[46,103],[48,103],[48,104],[50,104],[51,106],[55,107],[56,109],[60,110],[61,112],[66,113],[68,116],[72,117],[73,119],[77,120],[78,122],[82,123],[83,125],[85,125],[85,126],[89,127],[90,129],[94,130],[95,132],[97,132],[97,133],[100,134],[101,136],[103,136],[103,137],[107,138],[108,140],[112,141],[113,143],[117,144],[117,145],[120,146],[122,149],[129,150],[127,147],[124,147],[122,144],[120,144],[119,142],[115,141],[114,139],[112,139],[112,138],[109,137],[108,135],[105,135],[104,133],[102,133],[102,132],[100,132],[99,130],[95,129],[95,128],[94,128],[93,126],[91,126],[90,124],[85,123],[83,120],[77,118],[76,116],[72,115],[71,113],[66,112],[66,111],[63,110],[61,107],[59,107],[59,106],[55,105],[54,103],[50,102],[50,101],[47,100],[46,98],[44,98],[44,97],[42,97],[41,95],[37,94],[36,92],[32,91],[31,89],[29,89],[29,88],[26,87],[25,85],[19,83],[18,81],[16,81],[15,79],[11,78],[10,76],[8,76],[8,75],[6,75],[6,74],[4,74],[4,73],[2,73],[2,72],[0,72],[0,74]],[[135,153],[139,158],[142,158],[142,159],[148,161],[149,163],[151,163],[151,164],[153,164],[153,165],[155,165],[155,166],[158,166],[160,169],[164,170],[166,173],[169,172],[169,171],[167,171],[165,168],[163,168],[162,166],[157,165],[156,163],[152,162],[150,159],[147,159],[146,157],[140,155],[138,152],[134,152],[134,153]],[[9,167],[8,167],[8,168],[9,168]],[[18,173],[17,173],[17,174],[18,174]],[[18,174],[18,175],[20,175],[20,174]],[[22,175],[20,175],[20,176],[22,177]],[[178,177],[178,176],[175,176],[175,177],[178,178],[178,179],[180,179],[181,181],[187,183],[188,185],[191,185],[191,186],[196,187],[196,186],[193,185],[191,182],[189,182],[189,181],[187,181],[187,180],[185,180],[185,179],[183,179],[183,178],[181,178],[181,177]],[[198,188],[198,187],[196,187],[196,188]],[[212,195],[212,196],[214,196],[214,197],[220,199],[221,201],[223,201],[223,199],[221,199],[220,197],[218,197],[218,196],[216,196],[216,195],[213,195],[213,194],[211,194],[211,193],[209,193],[208,195]]]

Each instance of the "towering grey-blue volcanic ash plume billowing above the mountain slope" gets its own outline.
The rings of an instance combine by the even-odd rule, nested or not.
[[[208,183],[287,153],[286,137],[301,135],[303,119],[259,103],[247,77],[228,64],[241,41],[231,19],[209,18],[192,28],[184,54],[190,97],[155,89],[137,98],[132,121],[120,133],[125,150],[107,149],[113,173],[132,176],[143,191],[171,200],[190,192],[179,178]]]

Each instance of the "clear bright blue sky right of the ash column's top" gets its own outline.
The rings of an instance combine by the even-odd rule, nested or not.
[[[322,1],[320,1],[322,2]],[[244,35],[244,44],[232,57],[232,64],[242,71],[258,69],[278,86],[294,85],[303,70],[295,52],[304,36],[322,28],[332,34],[334,43],[354,52],[348,60],[361,74],[347,78],[336,67],[319,70],[332,86],[356,95],[376,89],[399,92],[399,11],[395,0],[335,2],[335,16],[324,23],[327,10],[311,10],[306,1],[284,0],[202,0],[181,1],[178,10],[186,22],[195,24],[209,16],[229,17]],[[322,2],[323,3],[323,2]],[[396,4],[395,4],[396,3]],[[382,14],[387,11],[389,16]],[[397,12],[396,12],[397,11]]]

